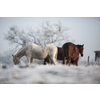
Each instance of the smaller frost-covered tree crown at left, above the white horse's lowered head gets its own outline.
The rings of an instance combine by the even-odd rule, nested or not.
[[[15,25],[11,26],[7,33],[4,34],[4,36],[11,45],[15,46],[15,48],[20,46],[23,47],[30,42],[30,37],[28,34]]]

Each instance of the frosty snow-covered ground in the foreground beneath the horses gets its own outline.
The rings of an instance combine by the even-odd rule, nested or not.
[[[99,84],[99,65],[0,65],[0,83],[4,84]]]

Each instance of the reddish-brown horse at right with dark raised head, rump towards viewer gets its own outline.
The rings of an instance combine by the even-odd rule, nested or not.
[[[65,43],[63,45],[64,50],[64,57],[63,57],[63,64],[65,64],[65,60],[67,59],[67,64],[70,63],[75,64],[78,66],[79,54],[83,57],[83,45],[75,45],[71,42]]]

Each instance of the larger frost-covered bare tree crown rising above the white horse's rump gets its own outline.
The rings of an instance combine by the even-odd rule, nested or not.
[[[63,26],[61,22],[50,24],[45,22],[39,25],[36,29],[31,28],[29,30],[29,36],[33,38],[35,44],[46,45],[50,43],[60,43],[61,41],[68,41],[69,28]]]

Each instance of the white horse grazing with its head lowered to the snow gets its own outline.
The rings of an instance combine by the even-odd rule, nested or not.
[[[27,64],[33,62],[33,58],[43,60],[49,57],[51,63],[56,65],[58,49],[53,44],[48,44],[45,47],[38,46],[36,44],[30,44],[21,48],[16,55],[13,56],[14,64],[20,63],[20,58],[23,56],[27,57]]]

